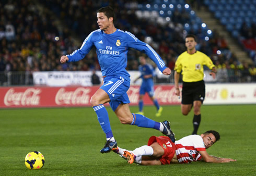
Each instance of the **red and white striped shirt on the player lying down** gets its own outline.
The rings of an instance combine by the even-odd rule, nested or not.
[[[189,135],[175,142],[176,155],[180,163],[200,160],[199,151],[205,151],[203,138],[200,135]]]

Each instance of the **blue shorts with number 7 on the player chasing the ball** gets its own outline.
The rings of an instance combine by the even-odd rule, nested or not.
[[[130,103],[126,93],[129,88],[130,80],[126,80],[123,77],[106,77],[104,78],[104,84],[100,87],[100,89],[104,90],[109,95],[109,105],[113,111],[115,111],[120,104]]]

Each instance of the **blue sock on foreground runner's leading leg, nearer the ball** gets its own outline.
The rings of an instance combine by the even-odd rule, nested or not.
[[[106,137],[107,138],[113,137],[112,130],[110,127],[110,122],[109,122],[109,115],[106,108],[103,105],[96,105],[93,108],[98,116],[98,121],[101,125],[102,130],[106,134]]]

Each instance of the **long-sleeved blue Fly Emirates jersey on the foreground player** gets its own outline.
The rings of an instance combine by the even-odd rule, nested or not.
[[[167,67],[161,57],[148,44],[138,40],[132,33],[117,29],[112,34],[105,34],[100,29],[91,32],[80,49],[67,55],[68,62],[83,59],[92,46],[96,47],[102,76],[124,77],[130,80],[130,74],[125,70],[127,66],[127,52],[134,48],[145,53],[152,59],[162,72]]]

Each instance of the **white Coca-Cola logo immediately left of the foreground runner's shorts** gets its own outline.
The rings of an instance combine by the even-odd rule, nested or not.
[[[89,103],[90,88],[78,87],[75,91],[66,91],[61,88],[55,96],[57,105],[87,105]]]

